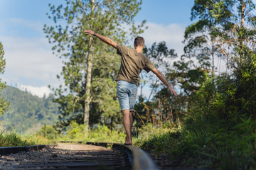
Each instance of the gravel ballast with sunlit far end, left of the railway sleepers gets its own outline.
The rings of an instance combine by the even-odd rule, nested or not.
[[[100,151],[112,151],[112,149],[94,145],[59,143],[56,147],[46,147],[35,151],[31,150],[28,152],[2,155],[0,156],[0,169],[17,169],[17,166],[25,164],[63,162],[63,160],[74,159],[74,157],[75,159],[82,159],[83,157],[90,157],[90,152]],[[41,168],[38,167],[36,169]]]

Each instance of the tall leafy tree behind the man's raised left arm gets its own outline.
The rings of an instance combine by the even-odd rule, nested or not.
[[[93,29],[112,40],[125,43],[129,28],[132,35],[142,33],[141,26],[134,24],[142,1],[114,0],[66,0],[63,5],[50,5],[48,17],[55,26],[45,26],[44,31],[53,51],[63,58],[65,87],[60,85],[55,91],[56,102],[60,103],[60,125],[68,125],[71,120],[85,123],[89,127],[89,113],[92,103],[97,113],[119,117],[115,94],[114,77],[117,75],[119,57],[104,43],[85,37],[83,30]],[[57,25],[59,24],[59,25]],[[109,96],[106,98],[105,96]],[[95,109],[94,109],[95,111]]]

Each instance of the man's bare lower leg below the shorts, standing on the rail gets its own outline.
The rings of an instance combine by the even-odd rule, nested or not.
[[[132,144],[132,112],[129,109],[122,111],[124,130],[127,134],[125,137],[125,144]]]

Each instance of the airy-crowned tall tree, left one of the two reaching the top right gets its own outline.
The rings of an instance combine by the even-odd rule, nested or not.
[[[184,34],[185,56],[196,57],[198,67],[209,69],[212,74],[215,73],[215,57],[223,57],[217,40],[233,26],[230,23],[233,4],[230,0],[197,0],[191,10],[191,21],[196,22],[188,26]]]

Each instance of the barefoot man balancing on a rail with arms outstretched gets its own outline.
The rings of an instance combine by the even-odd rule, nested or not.
[[[132,112],[137,97],[137,86],[139,81],[139,74],[142,69],[146,72],[154,72],[156,76],[168,87],[171,94],[177,96],[176,91],[171,87],[164,75],[159,72],[151,63],[148,57],[142,54],[145,47],[144,38],[137,37],[134,40],[134,49],[125,47],[113,42],[110,38],[97,34],[93,30],[85,30],[86,34],[94,35],[103,42],[111,45],[117,49],[117,54],[121,55],[121,67],[119,69],[117,81],[117,97],[123,115],[123,124],[127,137],[124,145],[132,145]]]

